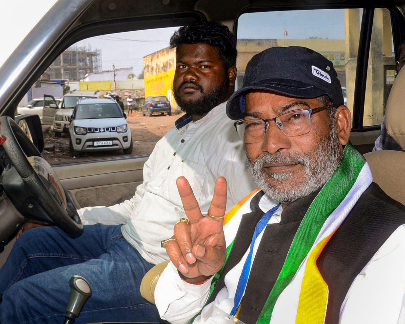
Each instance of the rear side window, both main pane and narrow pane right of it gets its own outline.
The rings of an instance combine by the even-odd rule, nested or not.
[[[305,46],[328,58],[337,70],[345,104],[353,114],[362,9],[244,13],[238,19],[237,88],[247,62],[265,48]],[[381,124],[396,77],[390,11],[374,9],[362,126]],[[397,53],[399,55],[399,53]],[[359,107],[358,109],[363,109]]]

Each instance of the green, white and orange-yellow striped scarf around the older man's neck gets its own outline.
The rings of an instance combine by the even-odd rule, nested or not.
[[[371,170],[364,157],[347,143],[339,168],[307,210],[256,324],[268,324],[272,319],[277,322],[291,322],[280,318],[286,309],[296,309],[294,314],[297,324],[324,323],[328,305],[328,286],[316,261],[372,180]],[[257,192],[258,190],[243,198],[224,218],[224,225],[227,224],[224,227],[226,242],[232,241],[226,248],[224,266],[233,247],[234,235],[241,217],[250,211],[249,202]],[[214,276],[208,300],[224,266]],[[281,313],[277,309],[280,309]]]

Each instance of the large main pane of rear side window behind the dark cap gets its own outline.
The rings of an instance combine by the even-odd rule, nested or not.
[[[237,24],[237,88],[247,62],[275,46],[304,46],[335,66],[347,107],[353,111],[362,9],[317,9],[244,13]],[[293,67],[292,67],[293,68]]]

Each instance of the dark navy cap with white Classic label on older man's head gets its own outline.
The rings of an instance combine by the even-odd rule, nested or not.
[[[332,62],[312,49],[301,46],[271,47],[247,63],[243,86],[230,96],[226,114],[243,118],[245,93],[261,89],[296,98],[328,95],[335,107],[344,104],[342,87]]]

